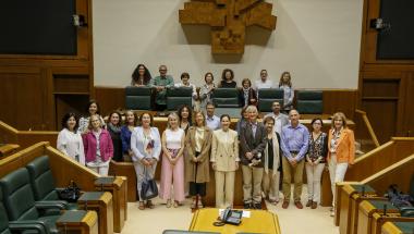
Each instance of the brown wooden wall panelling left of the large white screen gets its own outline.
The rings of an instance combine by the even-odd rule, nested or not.
[[[53,131],[68,106],[86,106],[68,99],[94,95],[92,0],[76,0],[76,13],[88,24],[77,28],[76,56],[0,54],[0,120],[19,130]],[[56,101],[56,95],[71,97]]]

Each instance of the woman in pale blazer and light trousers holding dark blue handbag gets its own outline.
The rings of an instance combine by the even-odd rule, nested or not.
[[[148,173],[150,177],[154,177],[155,170],[157,168],[157,161],[161,152],[161,138],[157,127],[153,127],[154,119],[150,113],[141,114],[141,126],[134,128],[131,135],[131,149],[134,152],[132,161],[134,162],[136,173],[136,185],[138,195],[141,195],[141,187],[145,177],[145,173]],[[144,202],[139,196],[139,210],[144,210],[145,207],[153,209],[154,204],[151,200]]]

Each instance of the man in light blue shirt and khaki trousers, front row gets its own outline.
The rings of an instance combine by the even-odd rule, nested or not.
[[[283,151],[282,170],[283,170],[283,185],[282,192],[284,200],[282,208],[289,207],[291,198],[291,181],[293,172],[294,192],[293,200],[297,209],[302,209],[301,202],[302,195],[302,177],[303,168],[305,164],[304,157],[307,152],[309,132],[306,126],[299,122],[301,115],[296,110],[289,112],[290,124],[282,127],[281,148]]]

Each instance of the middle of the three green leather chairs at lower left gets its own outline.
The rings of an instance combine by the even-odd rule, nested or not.
[[[0,180],[3,204],[10,221],[42,224],[48,233],[58,233],[56,221],[60,215],[41,215],[42,209],[63,209],[58,202],[37,201],[29,184],[27,169],[20,168]]]

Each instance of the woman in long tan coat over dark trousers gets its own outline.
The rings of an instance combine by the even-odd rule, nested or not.
[[[193,197],[192,209],[203,208],[206,196],[206,183],[209,181],[209,163],[212,131],[206,126],[203,112],[195,113],[195,126],[191,126],[185,148],[185,182],[190,183],[190,195]]]

